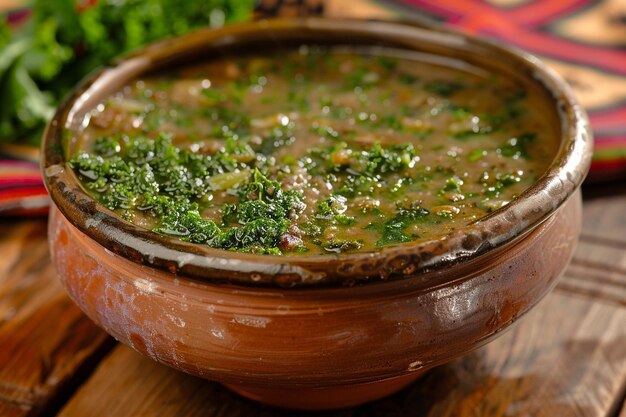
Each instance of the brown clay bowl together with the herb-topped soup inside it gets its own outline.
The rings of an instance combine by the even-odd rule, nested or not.
[[[591,137],[534,57],[457,33],[276,20],[87,79],[44,140],[50,244],[118,340],[250,398],[379,398],[554,286]]]

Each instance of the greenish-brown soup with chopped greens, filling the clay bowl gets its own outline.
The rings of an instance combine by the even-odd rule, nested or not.
[[[391,49],[302,47],[138,79],[70,164],[123,218],[289,255],[445,238],[546,170],[557,128],[520,81]]]

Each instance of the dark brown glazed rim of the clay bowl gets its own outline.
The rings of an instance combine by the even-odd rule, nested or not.
[[[285,35],[307,31],[325,33],[332,39],[346,33],[380,36],[386,41],[425,39],[460,51],[493,54],[509,62],[508,65],[518,65],[516,70],[532,77],[550,94],[556,105],[561,121],[561,142],[553,162],[517,199],[445,239],[408,242],[376,251],[288,256],[213,249],[136,226],[97,203],[67,166],[64,142],[69,136],[69,125],[76,123],[77,115],[84,114],[90,100],[115,77],[125,77],[127,82],[151,68],[176,61],[185,53],[197,54],[207,42],[213,42],[211,45],[229,44],[254,34]],[[133,75],[128,76],[130,73]],[[298,18],[201,30],[152,44],[98,70],[72,91],[48,124],[42,142],[42,171],[53,204],[74,227],[113,253],[136,263],[216,283],[270,287],[343,286],[387,278],[410,279],[504,248],[536,228],[567,201],[585,178],[591,153],[592,137],[585,111],[561,77],[527,52],[449,29],[414,23]]]

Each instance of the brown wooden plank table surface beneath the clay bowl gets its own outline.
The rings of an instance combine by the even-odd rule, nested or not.
[[[626,184],[584,191],[571,266],[511,331],[392,397],[319,415],[626,417]],[[0,221],[0,416],[301,414],[115,343],[56,280],[45,220]]]

